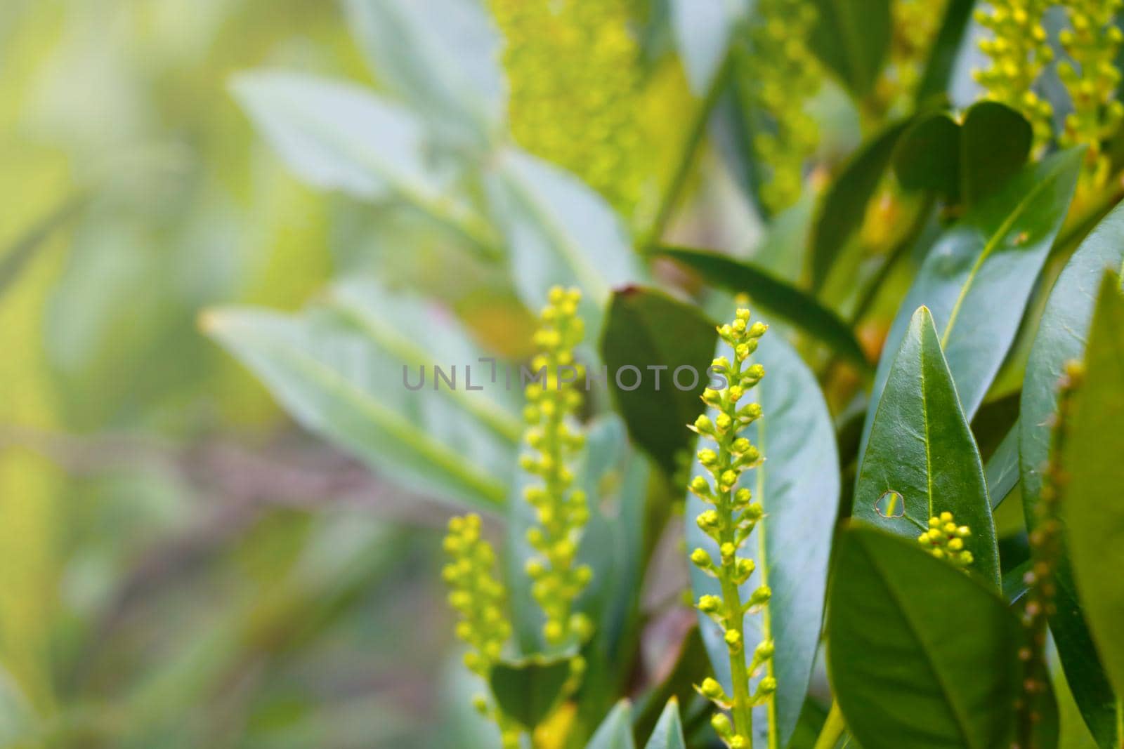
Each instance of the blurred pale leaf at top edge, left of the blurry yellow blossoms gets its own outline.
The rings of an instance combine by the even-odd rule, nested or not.
[[[437,129],[483,146],[502,119],[500,39],[473,0],[346,0],[347,18],[380,83]]]

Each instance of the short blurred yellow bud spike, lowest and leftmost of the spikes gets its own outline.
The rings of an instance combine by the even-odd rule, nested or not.
[[[478,514],[448,521],[448,533],[444,540],[448,563],[442,569],[442,577],[450,587],[448,604],[460,614],[456,637],[469,646],[464,665],[487,679],[511,636],[511,623],[505,613],[507,595],[504,585],[493,574],[496,552],[481,537],[480,530]],[[504,749],[519,746],[520,731],[514,720],[493,706],[483,694],[475,695],[472,704],[480,714],[499,725]]]

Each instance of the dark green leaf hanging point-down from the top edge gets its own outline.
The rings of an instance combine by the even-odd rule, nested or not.
[[[813,53],[855,99],[878,80],[890,51],[889,0],[814,0]]]

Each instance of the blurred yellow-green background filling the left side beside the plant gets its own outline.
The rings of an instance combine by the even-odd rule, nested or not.
[[[422,746],[436,714],[444,513],[199,331],[384,249],[252,131],[257,66],[375,81],[328,0],[0,3],[0,746]]]

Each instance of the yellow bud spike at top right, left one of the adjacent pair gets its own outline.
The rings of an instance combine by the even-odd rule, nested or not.
[[[987,97],[1019,111],[1034,130],[1035,148],[1050,140],[1053,108],[1034,91],[1039,74],[1053,60],[1042,16],[1052,0],[988,0],[990,11],[976,11],[976,20],[990,29],[991,38],[980,40],[980,49],[991,66],[975,71]]]

